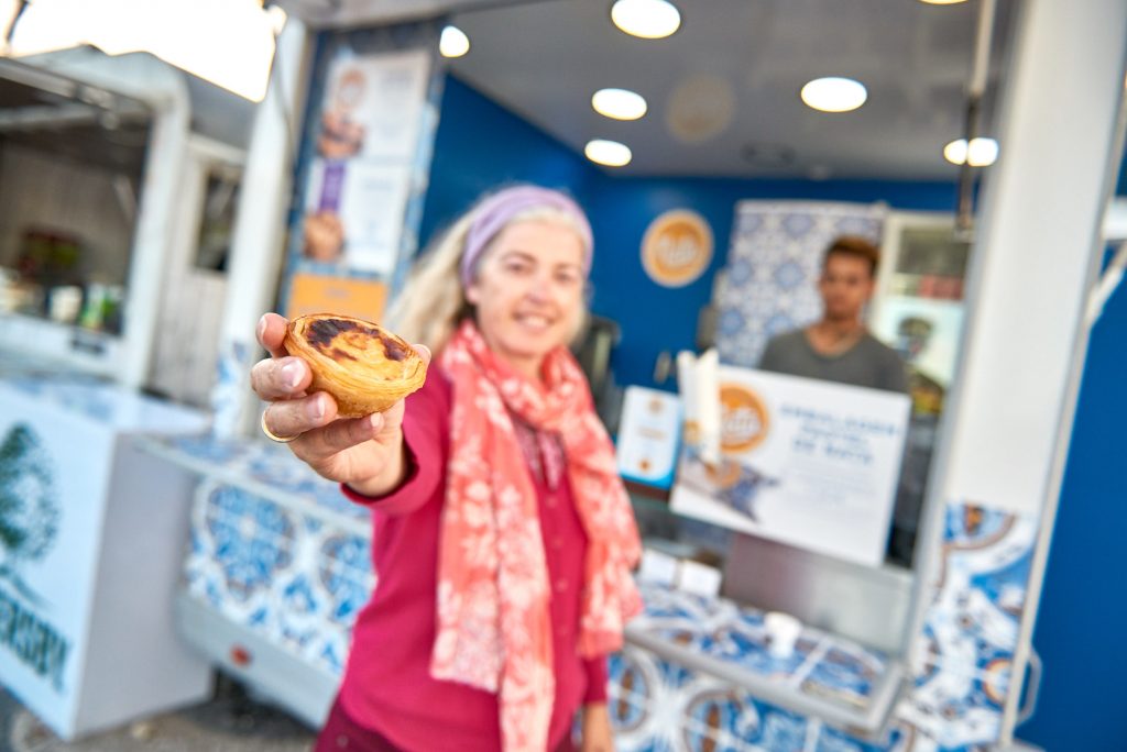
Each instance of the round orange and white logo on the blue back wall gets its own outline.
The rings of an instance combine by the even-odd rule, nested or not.
[[[641,265],[658,285],[684,287],[700,278],[711,260],[712,229],[695,212],[666,212],[646,229]]]

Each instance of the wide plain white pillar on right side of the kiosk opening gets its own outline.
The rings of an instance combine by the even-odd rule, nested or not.
[[[942,499],[1045,502],[1122,86],[1119,0],[1030,2],[973,251]]]

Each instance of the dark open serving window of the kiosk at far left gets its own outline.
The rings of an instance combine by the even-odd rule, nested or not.
[[[0,314],[117,337],[151,115],[87,89],[0,61]]]

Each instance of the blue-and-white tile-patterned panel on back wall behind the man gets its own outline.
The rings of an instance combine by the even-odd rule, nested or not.
[[[775,334],[822,315],[822,256],[838,235],[879,242],[886,207],[820,202],[736,205],[727,266],[713,295],[720,360],[754,368]]]

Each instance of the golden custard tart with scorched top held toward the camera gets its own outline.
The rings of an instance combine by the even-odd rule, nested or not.
[[[426,362],[406,340],[361,319],[299,316],[282,347],[309,364],[310,392],[328,392],[341,418],[383,412],[426,381]]]

